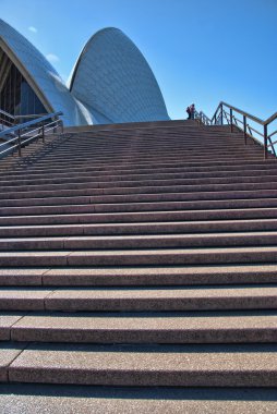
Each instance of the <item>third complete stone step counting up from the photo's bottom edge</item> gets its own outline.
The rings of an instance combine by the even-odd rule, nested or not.
[[[189,312],[277,309],[277,285],[0,288],[0,310]]]

